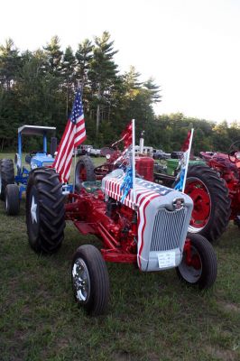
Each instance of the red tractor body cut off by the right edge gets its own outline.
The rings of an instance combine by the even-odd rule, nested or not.
[[[240,227],[240,141],[233,143],[227,154],[201,152],[200,155],[224,180],[231,199],[229,219]]]

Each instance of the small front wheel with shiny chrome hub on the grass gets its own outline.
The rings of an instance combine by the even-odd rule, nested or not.
[[[73,256],[71,281],[75,300],[92,316],[105,312],[109,298],[106,263],[94,245],[81,245]]]

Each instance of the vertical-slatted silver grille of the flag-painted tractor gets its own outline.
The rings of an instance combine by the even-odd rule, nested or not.
[[[152,230],[151,251],[169,251],[180,247],[186,215],[187,208],[158,210]]]

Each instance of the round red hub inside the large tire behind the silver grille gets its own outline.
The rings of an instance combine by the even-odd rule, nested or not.
[[[208,190],[201,180],[187,180],[185,193],[193,200],[190,226],[202,228],[208,223],[211,200]]]

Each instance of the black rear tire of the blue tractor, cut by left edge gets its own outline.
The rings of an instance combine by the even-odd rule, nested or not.
[[[14,162],[12,159],[0,161],[0,198],[5,200],[5,188],[8,184],[14,184]]]

